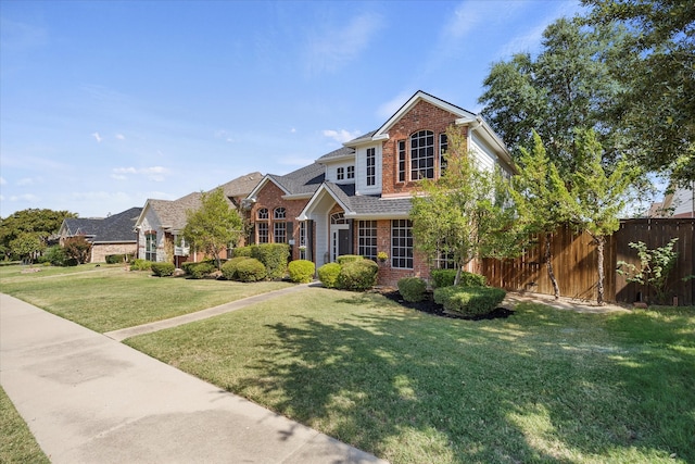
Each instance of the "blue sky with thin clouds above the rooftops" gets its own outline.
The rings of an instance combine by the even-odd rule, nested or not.
[[[425,90],[478,112],[493,62],[579,1],[13,1],[0,216],[105,216],[286,174]]]

